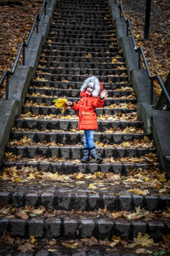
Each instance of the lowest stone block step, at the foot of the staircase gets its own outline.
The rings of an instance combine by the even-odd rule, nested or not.
[[[96,239],[104,240],[111,236],[119,236],[121,239],[127,238],[132,240],[138,233],[149,234],[150,238],[160,241],[163,234],[170,232],[169,223],[166,220],[149,221],[127,221],[124,219],[109,218],[74,218],[57,217],[57,218],[1,218],[0,234],[3,235],[8,231],[11,236],[20,236],[28,239],[30,236],[35,238],[65,238],[65,239],[82,239],[94,236]]]

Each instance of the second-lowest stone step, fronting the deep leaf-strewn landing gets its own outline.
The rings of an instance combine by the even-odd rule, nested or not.
[[[37,188],[34,187],[36,182]],[[128,214],[130,214],[130,211],[134,212],[136,207],[156,212],[166,210],[170,206],[170,196],[156,195],[156,191],[152,191],[154,195],[131,195],[130,192],[127,192],[128,189],[131,189],[131,186],[125,187],[120,184],[119,191],[117,191],[117,188],[114,189],[114,186],[111,187],[109,183],[105,183],[105,187],[103,187],[105,192],[96,189],[95,193],[92,194],[92,190],[88,188],[92,181],[84,182],[84,185],[88,188],[86,191],[77,186],[77,183],[71,182],[71,187],[74,185],[74,189],[66,188],[57,180],[48,182],[45,188],[37,180],[33,180],[30,187],[26,185],[21,188],[14,188],[9,184],[7,192],[4,192],[1,188],[0,201],[3,205],[11,204],[12,207],[45,207],[52,211],[82,210],[89,212],[89,215],[92,214],[91,211],[99,211],[99,209],[105,208],[111,211],[108,213],[128,211]],[[93,183],[95,183],[95,180]],[[97,186],[97,183],[95,184]],[[118,195],[120,192],[121,195]],[[72,213],[74,214],[74,212]],[[109,217],[111,218],[111,214]]]

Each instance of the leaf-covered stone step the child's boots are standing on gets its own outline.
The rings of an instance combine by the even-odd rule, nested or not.
[[[14,155],[13,155],[14,157]],[[111,163],[110,159],[104,160],[102,164],[97,164],[93,160],[90,160],[88,164],[82,164],[79,160],[78,163],[75,163],[73,161],[64,161],[59,160],[56,162],[55,159],[49,159],[49,158],[42,158],[40,156],[35,156],[33,159],[27,159],[16,157],[14,160],[4,160],[3,161],[3,168],[11,168],[15,167],[20,170],[24,167],[32,167],[37,170],[37,172],[51,172],[59,174],[71,174],[71,173],[94,173],[94,172],[113,172],[116,174],[120,174],[121,176],[126,176],[127,172],[129,170],[149,170],[150,166],[155,166],[156,168],[159,167],[158,161],[154,163],[148,162],[146,160],[148,157],[148,154],[144,155],[144,157],[141,157],[139,159],[135,158],[136,162],[132,162],[133,158],[127,158],[126,161],[120,161],[119,159],[116,159],[116,163]],[[40,160],[38,160],[40,159]],[[139,162],[138,162],[139,161]],[[5,170],[5,169],[4,169]]]

